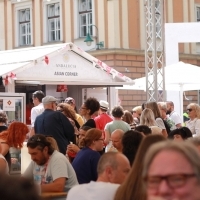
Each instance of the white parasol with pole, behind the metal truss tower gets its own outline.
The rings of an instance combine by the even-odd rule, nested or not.
[[[168,91],[179,91],[180,95],[180,114],[183,114],[183,92],[189,90],[200,89],[200,67],[178,62],[166,66],[165,70],[165,88]],[[154,78],[153,75],[151,77]],[[158,82],[162,77],[158,74]],[[117,87],[117,89],[131,89],[131,90],[146,90],[146,77],[134,80],[135,84],[132,86]],[[158,86],[159,88],[159,86]],[[170,99],[168,99],[170,100]]]

